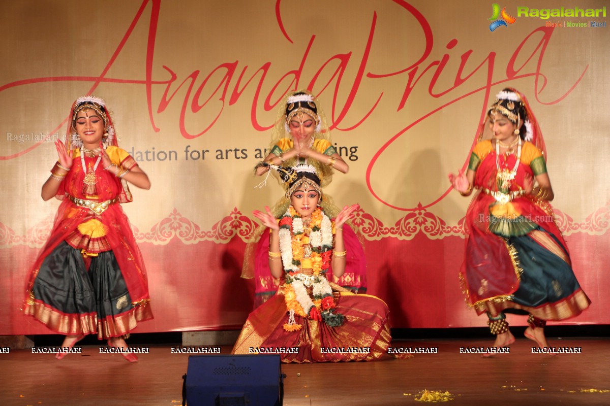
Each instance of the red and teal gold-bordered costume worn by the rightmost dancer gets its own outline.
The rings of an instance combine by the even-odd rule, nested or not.
[[[475,195],[466,214],[466,256],[460,279],[469,306],[481,314],[528,312],[542,320],[579,315],[589,304],[572,270],[570,254],[548,201],[521,195],[497,201],[498,166],[511,169],[515,155],[498,157],[492,142],[475,146],[469,169],[476,170]],[[524,180],[545,173],[542,152],[524,142],[510,192]]]

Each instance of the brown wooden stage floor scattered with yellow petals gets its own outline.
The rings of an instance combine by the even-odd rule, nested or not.
[[[610,339],[551,338],[556,348],[580,354],[532,354],[532,341],[517,338],[509,354],[482,358],[461,347],[489,340],[405,340],[392,347],[438,348],[412,359],[384,356],[377,362],[282,365],[284,405],[422,405],[418,392],[448,391],[449,405],[610,405]],[[100,346],[55,360],[31,350],[0,354],[1,406],[181,405],[182,374],[189,354],[170,345],[150,346],[140,362],[100,354]],[[145,346],[139,346],[144,348]],[[229,354],[229,346],[221,354]],[[300,376],[298,376],[300,374]],[[596,389],[602,392],[582,390]]]

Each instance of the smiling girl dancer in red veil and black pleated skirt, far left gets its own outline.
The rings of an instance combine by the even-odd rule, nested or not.
[[[24,311],[64,334],[62,348],[97,334],[127,349],[124,338],[152,312],[142,254],[120,203],[132,201],[127,182],[151,184],[118,147],[104,100],[80,97],[70,118],[66,144],[56,141],[59,161],[42,187],[43,200],[55,196],[62,203],[30,271]],[[135,354],[121,355],[137,361]]]

